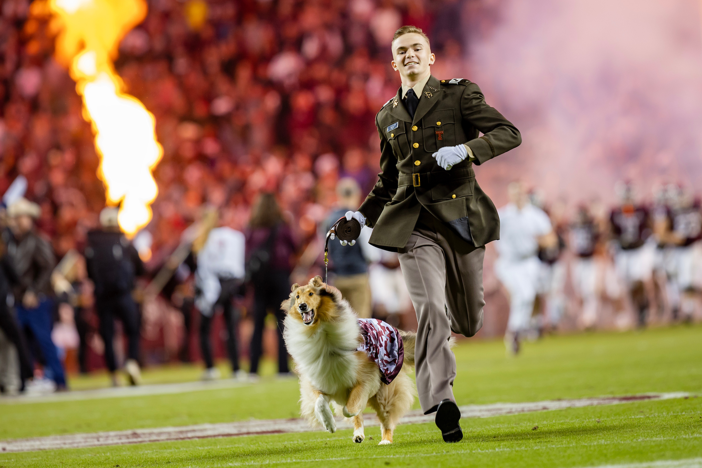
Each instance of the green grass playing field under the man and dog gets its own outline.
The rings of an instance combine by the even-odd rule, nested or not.
[[[702,391],[701,326],[547,337],[527,343],[516,359],[505,357],[498,341],[467,340],[455,351],[458,404]],[[199,373],[154,370],[147,380],[172,382],[173,375],[188,380]],[[296,380],[271,376],[236,389],[0,404],[0,439],[296,417],[298,396]],[[680,459],[687,461],[675,466],[702,466],[702,460],[690,461],[702,457],[702,397],[464,419],[461,425],[465,437],[451,445],[433,424],[416,424],[398,427],[392,446],[377,446],[380,430],[371,427],[362,444],[350,441],[350,430],[246,436],[5,453],[0,467],[589,467]]]

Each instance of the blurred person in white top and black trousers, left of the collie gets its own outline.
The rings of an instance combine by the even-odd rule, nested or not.
[[[219,378],[214,366],[210,329],[215,309],[221,306],[227,326],[227,354],[236,377],[246,377],[239,368],[237,349],[237,315],[234,297],[239,295],[244,281],[244,234],[230,227],[216,227],[207,236],[204,247],[197,254],[195,273],[195,305],[200,311],[200,347],[205,361],[203,380]]]

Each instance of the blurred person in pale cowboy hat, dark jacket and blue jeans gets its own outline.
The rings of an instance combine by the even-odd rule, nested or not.
[[[15,308],[20,326],[39,345],[46,362],[46,377],[51,378],[58,389],[65,389],[63,368],[56,346],[51,341],[53,291],[50,280],[55,259],[51,245],[34,230],[34,220],[39,218],[39,215],[39,205],[24,198],[8,207],[13,234],[8,251],[13,257],[19,278],[14,288]]]

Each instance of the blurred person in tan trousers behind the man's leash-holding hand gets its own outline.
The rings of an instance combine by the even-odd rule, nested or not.
[[[326,232],[349,210],[355,211],[361,204],[361,189],[351,178],[339,180],[336,185],[337,208],[333,210],[324,225]],[[362,236],[353,245],[342,246],[338,240],[329,241],[329,269],[333,274],[330,283],[341,291],[356,314],[362,319],[371,318],[371,287],[368,283],[368,263],[366,251],[371,229],[364,228]]]

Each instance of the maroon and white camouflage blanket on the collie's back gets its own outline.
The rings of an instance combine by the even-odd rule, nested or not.
[[[358,325],[361,327],[363,343],[356,350],[366,352],[378,364],[380,380],[385,385],[390,385],[404,362],[404,347],[399,331],[376,319],[358,319]]]

